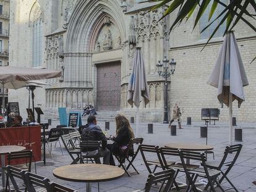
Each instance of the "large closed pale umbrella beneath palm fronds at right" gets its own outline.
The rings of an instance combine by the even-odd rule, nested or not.
[[[207,83],[218,88],[218,100],[221,102],[221,107],[223,103],[229,107],[229,144],[232,144],[232,104],[234,100],[237,100],[238,107],[241,106],[245,101],[244,86],[249,85],[233,31],[225,36]]]

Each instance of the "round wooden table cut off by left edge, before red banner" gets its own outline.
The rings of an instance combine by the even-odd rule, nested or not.
[[[15,151],[22,151],[26,149],[23,146],[17,146],[17,145],[7,145],[7,146],[0,146],[0,154],[1,154],[1,166],[2,168],[6,166],[6,154],[9,152],[15,152]],[[2,171],[2,189],[0,188],[0,191],[4,191],[4,184],[6,183],[6,177],[4,175],[4,172]]]

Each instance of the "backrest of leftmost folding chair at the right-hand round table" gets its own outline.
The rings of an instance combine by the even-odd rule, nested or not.
[[[143,159],[149,173],[152,173],[149,166],[152,164],[155,164],[156,161],[158,161],[158,163],[160,164],[161,167],[164,167],[158,146],[150,145],[150,144],[140,144],[139,148],[140,148],[140,153],[142,154],[142,159]],[[148,153],[150,153],[150,155],[146,155]],[[155,154],[155,156],[158,159],[156,160],[155,159],[156,157],[154,157],[154,156],[153,156],[154,159],[152,159],[152,154]]]

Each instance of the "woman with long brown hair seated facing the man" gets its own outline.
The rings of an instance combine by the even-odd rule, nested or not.
[[[122,156],[128,147],[131,138],[134,138],[134,131],[130,127],[129,120],[124,115],[116,115],[116,136],[111,138],[113,144],[108,144],[107,148],[111,151],[109,164],[115,165],[113,154]]]

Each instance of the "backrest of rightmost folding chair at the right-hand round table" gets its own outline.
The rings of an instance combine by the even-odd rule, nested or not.
[[[237,160],[237,157],[241,152],[241,149],[242,149],[242,144],[233,144],[230,146],[226,146],[226,149],[224,151],[224,156],[219,165],[219,169],[221,169],[223,165],[229,165],[233,167],[233,165]],[[229,154],[233,154],[233,158],[228,158]]]

